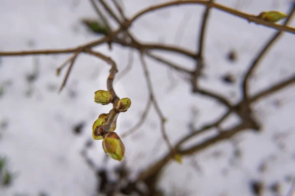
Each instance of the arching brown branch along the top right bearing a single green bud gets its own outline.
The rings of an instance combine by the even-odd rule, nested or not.
[[[169,6],[177,6],[177,5],[184,5],[184,4],[202,4],[202,5],[206,5],[209,7],[213,7],[219,10],[222,10],[226,13],[232,14],[234,16],[237,16],[239,18],[245,19],[249,22],[254,22],[258,25],[264,25],[264,26],[268,26],[270,28],[274,28],[276,30],[279,31],[285,31],[285,32],[290,32],[290,33],[295,33],[295,28],[294,27],[290,27],[290,26],[286,26],[286,25],[278,25],[275,23],[270,23],[267,22],[263,19],[260,19],[257,17],[257,15],[251,15],[251,14],[247,14],[241,11],[238,11],[236,9],[227,7],[225,5],[222,5],[220,3],[216,3],[216,2],[209,2],[207,0],[173,0],[173,1],[169,1],[169,2],[164,2],[164,3],[159,3],[157,5],[153,5],[150,6],[148,8],[145,8],[141,11],[139,11],[138,13],[136,13],[128,22],[128,25],[131,25],[135,20],[137,20],[139,17],[141,17],[144,14],[147,14],[148,12],[157,10],[157,9],[161,9],[164,7],[169,7]]]

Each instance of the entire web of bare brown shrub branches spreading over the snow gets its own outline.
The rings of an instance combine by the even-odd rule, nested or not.
[[[220,3],[214,2],[213,0],[173,0],[170,2],[164,2],[164,3],[159,3],[157,5],[150,6],[148,8],[145,8],[139,12],[137,12],[133,17],[130,19],[126,18],[121,6],[118,4],[116,0],[112,0],[112,2],[115,4],[116,8],[119,11],[120,17],[119,18],[114,10],[112,10],[109,6],[109,4],[106,3],[105,0],[97,0],[103,8],[106,10],[107,14],[111,16],[111,18],[116,21],[119,25],[117,30],[109,31],[109,34],[105,35],[101,39],[95,40],[93,42],[87,43],[82,46],[78,46],[76,48],[70,48],[70,49],[51,49],[51,50],[29,50],[29,51],[2,51],[0,52],[0,56],[24,56],[24,55],[40,55],[40,54],[62,54],[62,53],[72,53],[72,56],[70,56],[61,66],[57,68],[57,74],[60,73],[60,71],[65,68],[68,65],[68,70],[65,74],[65,77],[63,79],[63,82],[61,84],[61,87],[59,91],[66,85],[67,78],[72,70],[72,67],[75,63],[75,60],[77,56],[80,53],[88,53],[90,55],[94,55],[104,61],[106,61],[108,64],[111,65],[110,69],[110,74],[107,79],[107,89],[111,94],[113,95],[114,99],[112,99],[113,107],[115,106],[116,101],[119,99],[118,96],[115,93],[113,84],[114,84],[114,79],[115,75],[118,72],[117,65],[116,63],[108,56],[98,52],[94,51],[92,48],[99,46],[101,44],[109,44],[111,45],[112,43],[118,44],[124,47],[128,47],[129,49],[137,49],[140,52],[140,60],[141,64],[143,66],[144,74],[145,74],[145,79],[147,81],[148,85],[148,92],[149,92],[149,99],[147,106],[140,118],[140,121],[132,127],[129,131],[125,132],[123,134],[123,137],[126,137],[127,135],[130,135],[133,133],[135,130],[137,130],[146,120],[149,109],[151,107],[151,104],[154,106],[157,115],[159,116],[159,119],[161,121],[161,133],[162,137],[169,147],[169,151],[165,156],[162,157],[162,159],[156,161],[153,165],[151,165],[149,168],[144,170],[136,179],[136,181],[145,181],[146,184],[149,185],[155,185],[155,182],[157,181],[157,177],[159,176],[161,169],[165,167],[167,163],[169,163],[170,160],[175,158],[176,154],[180,155],[191,155],[195,152],[198,152],[202,149],[205,149],[207,147],[210,147],[218,142],[230,139],[234,137],[236,134],[243,130],[247,129],[254,129],[258,130],[259,129],[259,124],[256,123],[255,119],[252,117],[252,109],[251,109],[251,104],[255,101],[257,101],[260,98],[264,98],[272,93],[277,92],[278,90],[281,90],[295,82],[295,75],[293,75],[291,78],[286,79],[282,82],[279,82],[277,84],[274,84],[273,86],[259,92],[258,94],[254,95],[253,97],[248,98],[248,80],[251,76],[251,74],[255,71],[257,68],[259,62],[261,59],[265,56],[267,50],[273,45],[273,43],[277,40],[277,38],[281,35],[281,31],[285,32],[290,32],[290,33],[295,33],[295,28],[287,26],[288,22],[290,21],[292,15],[294,14],[295,10],[295,3],[293,6],[293,11],[291,14],[289,14],[289,17],[285,21],[284,25],[279,25],[271,22],[267,22],[263,19],[260,19],[258,15],[251,15],[247,14],[238,10],[235,10],[233,8],[227,7],[225,5],[222,5]],[[95,11],[99,15],[99,17],[104,21],[105,25],[109,26],[109,22],[107,21],[106,17],[102,14],[101,10],[99,9],[94,0],[90,0],[92,3],[92,6],[94,7]],[[108,1],[110,2],[110,1]],[[190,51],[188,49],[183,49],[178,46],[171,46],[167,44],[158,44],[158,43],[144,43],[142,41],[137,40],[130,32],[128,32],[128,28],[141,16],[144,14],[147,14],[151,11],[155,11],[161,8],[165,7],[170,7],[170,6],[178,6],[178,5],[185,5],[185,4],[201,4],[206,6],[206,10],[204,12],[203,16],[203,22],[202,26],[200,28],[200,34],[199,34],[199,45],[198,45],[198,51]],[[210,8],[215,8],[221,11],[224,11],[226,13],[232,14],[234,16],[237,16],[239,18],[243,18],[249,22],[254,22],[258,25],[264,25],[271,27],[273,29],[278,30],[272,39],[266,44],[266,46],[261,50],[261,52],[257,55],[256,59],[253,61],[253,63],[250,65],[248,72],[245,74],[245,78],[243,81],[243,99],[239,101],[236,105],[233,105],[227,98],[218,95],[217,93],[210,92],[209,90],[206,89],[201,89],[197,82],[199,79],[199,76],[201,75],[202,68],[204,66],[204,43],[205,43],[205,34],[206,34],[206,26],[207,26],[207,20],[208,20],[208,15],[209,15],[209,10]],[[124,39],[121,39],[120,35],[124,35]],[[110,47],[111,49],[111,47]],[[183,66],[177,65],[176,63],[167,60],[165,58],[162,58],[160,56],[157,56],[153,53],[154,50],[162,50],[162,51],[169,51],[169,52],[175,52],[178,54],[182,54],[190,59],[193,59],[196,63],[196,67],[194,70],[189,70],[184,68]],[[132,66],[132,61],[133,61],[133,56],[132,53],[130,52],[129,58],[128,58],[128,63],[125,69],[125,73],[127,73]],[[148,71],[148,66],[145,61],[145,56],[147,55],[149,58],[152,58],[158,62],[161,62],[170,68],[174,69],[175,71],[185,73],[187,76],[190,76],[190,82],[191,85],[193,86],[193,92],[199,95],[207,96],[209,98],[213,98],[220,102],[222,105],[226,107],[226,112],[220,116],[218,119],[216,119],[215,122],[213,123],[208,123],[204,126],[202,126],[199,129],[194,130],[193,132],[183,136],[180,138],[180,140],[177,142],[176,145],[172,146],[172,144],[169,141],[169,138],[167,136],[166,130],[165,130],[165,123],[166,119],[163,115],[163,112],[161,111],[158,102],[155,98],[154,92],[153,92],[153,87],[152,87],[152,82],[150,79],[149,71]],[[129,66],[130,65],[130,66]],[[124,74],[125,74],[124,73]],[[122,75],[124,75],[122,74]],[[219,130],[219,125],[223,123],[227,117],[231,114],[237,114],[240,122],[238,125],[235,127],[230,128],[229,130]],[[100,127],[103,129],[102,132],[106,133],[110,131],[111,126],[116,123],[117,118],[118,118],[118,111],[116,109],[111,109],[109,112],[109,118],[107,122],[104,125],[101,125]],[[207,140],[194,144],[191,147],[182,149],[181,145],[184,144],[184,142],[188,141],[189,139],[192,139],[206,131],[209,131],[213,128],[217,128],[218,131],[215,136],[207,138]]]

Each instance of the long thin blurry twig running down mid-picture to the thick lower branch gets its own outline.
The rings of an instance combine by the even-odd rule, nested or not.
[[[149,96],[150,96],[150,99],[155,107],[155,110],[161,120],[161,132],[162,132],[162,136],[163,136],[163,139],[164,141],[166,142],[167,146],[169,147],[170,150],[173,149],[170,141],[169,141],[169,138],[167,136],[167,133],[166,133],[166,130],[165,130],[165,123],[167,122],[167,119],[164,117],[159,105],[158,105],[158,102],[156,101],[155,99],[155,95],[154,95],[154,92],[153,92],[153,88],[152,88],[152,84],[151,84],[151,80],[150,80],[150,76],[149,76],[149,72],[148,72],[148,66],[147,66],[147,63],[144,59],[144,52],[143,51],[140,51],[140,59],[141,59],[141,64],[143,66],[143,69],[144,69],[144,72],[145,72],[145,77],[146,77],[146,80],[147,80],[147,83],[148,83],[148,91],[149,91]]]

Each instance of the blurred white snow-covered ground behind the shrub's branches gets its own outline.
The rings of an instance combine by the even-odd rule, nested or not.
[[[127,16],[131,17],[140,9],[163,1],[166,0],[124,0],[124,7]],[[287,12],[291,5],[291,0],[242,1],[239,9],[251,14],[273,9]],[[237,5],[237,0],[218,2],[231,7]],[[142,41],[174,43],[195,51],[203,10],[198,5],[162,9],[136,21],[132,32]],[[1,0],[0,50],[59,49],[84,44],[98,37],[80,20],[95,17],[87,0]],[[183,17],[189,21],[182,29],[182,35],[176,37]],[[295,20],[291,25],[295,26]],[[206,78],[202,80],[202,86],[237,101],[241,76],[274,32],[212,10],[206,36]],[[290,33],[279,39],[251,81],[253,93],[294,75],[294,46],[295,36]],[[117,62],[119,71],[126,66],[128,49],[119,46],[112,51],[107,46],[97,49],[110,55]],[[237,51],[235,63],[226,60],[231,49]],[[80,55],[66,87],[58,94],[65,72],[57,77],[55,70],[66,58],[68,55],[0,57],[0,123],[8,123],[6,128],[0,127],[0,156],[7,157],[9,170],[16,173],[10,187],[0,187],[0,196],[37,196],[40,192],[49,196],[91,196],[95,193],[95,174],[80,152],[91,139],[94,120],[111,108],[93,102],[94,92],[106,88],[110,67],[97,58]],[[173,54],[169,58],[188,68],[194,66],[193,61],[182,56]],[[190,85],[179,74],[172,73],[176,86],[171,89],[167,68],[151,60],[147,62],[173,143],[188,132],[191,108],[199,111],[196,127],[212,121],[224,111],[214,100],[191,95]],[[26,75],[36,66],[38,78],[29,83]],[[220,77],[226,73],[234,74],[237,82],[223,83]],[[120,134],[137,123],[148,99],[138,53],[135,52],[132,71],[116,82],[115,90],[120,97],[132,100],[128,112],[119,116],[116,131]],[[269,186],[276,182],[280,185],[280,195],[286,195],[291,187],[290,177],[295,175],[294,96],[293,86],[255,105],[258,119],[264,125],[263,132],[243,132],[235,137],[241,151],[239,159],[233,160],[233,141],[217,144],[184,158],[182,165],[171,163],[163,173],[161,188],[171,192],[176,187],[191,196],[251,196],[249,181],[255,179],[264,182],[264,196],[275,195]],[[280,104],[276,106],[278,102]],[[75,135],[73,127],[83,122],[83,132]],[[134,176],[167,152],[153,109],[144,126],[123,142],[126,147],[124,161],[132,168]],[[107,165],[103,163],[101,141],[95,141],[87,154],[98,167],[111,170],[119,164],[115,160],[109,160]],[[262,164],[265,170],[261,170]]]

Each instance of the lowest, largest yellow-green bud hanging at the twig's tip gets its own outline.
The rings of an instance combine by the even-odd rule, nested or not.
[[[105,153],[111,158],[121,161],[124,158],[125,146],[115,132],[108,133],[102,141]]]

